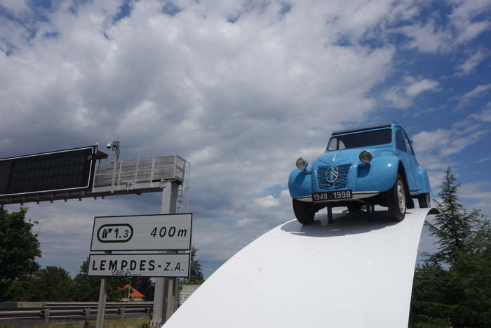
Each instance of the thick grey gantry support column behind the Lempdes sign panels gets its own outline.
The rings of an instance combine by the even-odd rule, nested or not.
[[[163,181],[162,190],[162,214],[174,214],[177,207],[177,185],[171,181]],[[166,251],[159,251],[160,254],[166,254]],[[174,278],[175,279],[175,278]],[[173,286],[175,283],[173,284]],[[150,327],[160,327],[166,322],[174,311],[168,310],[169,304],[174,302],[174,298],[169,298],[171,289],[168,278],[155,278],[154,310]],[[166,297],[166,299],[164,299]]]

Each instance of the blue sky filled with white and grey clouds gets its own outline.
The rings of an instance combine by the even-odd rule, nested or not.
[[[431,197],[451,166],[462,202],[490,215],[490,18],[489,0],[0,0],[0,157],[116,136],[123,160],[184,157],[206,276],[294,218],[295,160],[339,129],[398,122]],[[94,216],[160,203],[27,204],[39,263],[75,275]]]

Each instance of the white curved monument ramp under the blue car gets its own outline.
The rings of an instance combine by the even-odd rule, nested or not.
[[[163,327],[407,327],[430,209],[318,214],[278,225],[222,265]]]

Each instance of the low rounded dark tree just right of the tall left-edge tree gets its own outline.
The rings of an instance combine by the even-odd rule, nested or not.
[[[47,266],[36,273],[32,280],[31,301],[71,301],[72,277],[58,266]]]

